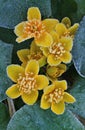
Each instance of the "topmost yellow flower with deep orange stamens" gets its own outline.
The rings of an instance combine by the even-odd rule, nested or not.
[[[41,13],[37,7],[31,7],[27,12],[27,20],[15,26],[15,34],[18,36],[18,43],[30,38],[34,38],[38,46],[47,47],[52,43],[49,34],[58,23],[56,19],[45,19],[41,21]]]

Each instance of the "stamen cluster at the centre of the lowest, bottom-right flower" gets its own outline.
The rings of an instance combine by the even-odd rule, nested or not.
[[[53,92],[45,96],[45,99],[52,103],[59,103],[63,99],[64,90],[62,88],[56,88]]]

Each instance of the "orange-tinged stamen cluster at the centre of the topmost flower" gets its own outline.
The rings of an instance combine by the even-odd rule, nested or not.
[[[24,33],[30,37],[39,38],[44,32],[45,26],[40,20],[30,20],[29,22],[26,22],[24,27]]]

